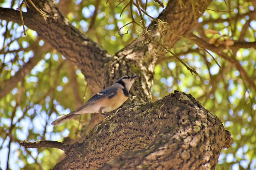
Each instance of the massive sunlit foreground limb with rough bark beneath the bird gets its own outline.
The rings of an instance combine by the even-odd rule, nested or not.
[[[100,169],[214,169],[220,151],[231,143],[220,119],[176,91],[118,110],[53,169],[96,169],[106,162]]]

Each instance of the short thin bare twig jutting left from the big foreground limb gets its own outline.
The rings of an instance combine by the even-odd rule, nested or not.
[[[71,145],[69,144],[61,143],[57,141],[35,141],[35,142],[21,141],[20,145],[22,145],[25,148],[56,148],[64,151],[69,150],[71,147]]]

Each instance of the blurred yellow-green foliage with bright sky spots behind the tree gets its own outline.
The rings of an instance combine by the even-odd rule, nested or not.
[[[167,0],[164,0],[164,5]],[[62,3],[62,4],[61,4]],[[131,21],[129,1],[57,1],[66,18],[93,41],[114,54],[131,43],[137,36],[138,25]],[[214,0],[198,20],[193,33],[216,45],[230,39],[232,42],[255,42],[255,2],[248,0]],[[0,6],[18,8],[20,1],[1,0]],[[145,8],[145,1],[141,2]],[[26,8],[22,8],[26,11]],[[154,1],[148,1],[148,14],[157,17],[163,10]],[[220,10],[224,12],[220,12]],[[232,12],[228,12],[232,11]],[[120,17],[120,14],[122,15]],[[136,8],[134,20],[139,22]],[[95,13],[95,14],[94,14]],[[146,25],[151,20],[144,17]],[[57,51],[38,39],[35,31],[21,25],[0,22],[0,83],[8,82],[19,70],[32,64],[33,69],[22,74],[17,86],[0,100],[0,166],[3,169],[50,169],[63,154],[58,149],[25,149],[19,141],[54,140],[79,137],[82,125],[88,124],[90,114],[53,127],[58,115],[69,113],[91,96],[84,76]],[[26,25],[26,23],[25,23]],[[212,32],[209,30],[212,30]],[[215,32],[214,32],[215,31]],[[212,33],[212,34],[211,34]],[[214,35],[215,33],[215,35]],[[217,45],[218,46],[218,43]],[[229,47],[232,47],[230,45]],[[206,47],[205,47],[206,48]],[[207,49],[207,48],[206,48]],[[154,100],[180,90],[192,94],[204,107],[222,119],[231,132],[234,143],[224,149],[216,169],[256,169],[256,51],[254,48],[224,49],[221,55],[208,51],[220,64],[189,39],[181,39],[171,49],[198,75],[191,73],[169,54],[160,57],[155,67]],[[28,61],[32,60],[32,63]],[[34,65],[33,65],[34,64]],[[2,86],[2,85],[1,85]],[[4,155],[4,156],[3,156]]]

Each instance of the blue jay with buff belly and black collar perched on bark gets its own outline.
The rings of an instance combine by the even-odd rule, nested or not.
[[[52,125],[58,126],[80,114],[96,113],[102,114],[113,111],[120,107],[129,96],[130,88],[136,78],[140,75],[122,76],[112,86],[105,88],[90,98],[85,104],[78,107],[75,111],[64,115],[52,122]]]

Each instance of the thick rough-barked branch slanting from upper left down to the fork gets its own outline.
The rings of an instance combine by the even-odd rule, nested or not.
[[[47,0],[36,4],[40,9],[50,14],[44,21],[38,12],[30,8],[23,14],[24,23],[35,30],[38,36],[52,45],[58,52],[70,61],[75,62],[85,75],[94,93],[102,89],[106,70],[105,63],[112,58],[103,47],[94,43],[87,35],[81,33],[62,16],[58,8]],[[0,19],[21,23],[17,10],[0,8]],[[96,70],[96,71],[91,71]]]

